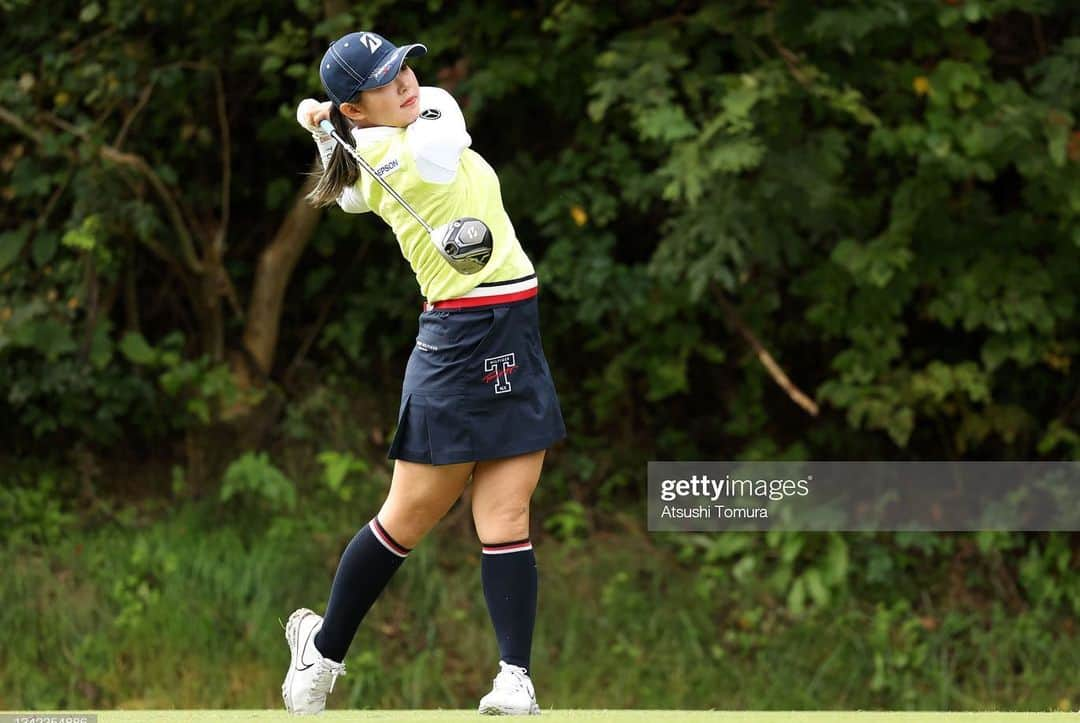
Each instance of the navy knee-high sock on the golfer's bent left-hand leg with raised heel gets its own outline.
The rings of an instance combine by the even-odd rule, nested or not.
[[[410,551],[390,536],[378,517],[361,527],[341,553],[323,627],[315,635],[324,657],[345,660],[356,628]]]

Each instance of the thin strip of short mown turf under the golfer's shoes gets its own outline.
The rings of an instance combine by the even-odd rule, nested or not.
[[[100,711],[98,723],[232,723],[233,721],[296,721],[281,710],[184,710],[184,711]],[[320,715],[319,721],[481,721],[491,720],[474,710],[383,710],[333,711]],[[711,723],[1014,723],[1020,721],[1076,721],[1076,713],[899,713],[899,712],[840,712],[840,711],[697,711],[697,710],[545,710],[539,719],[546,723],[573,721],[593,723],[611,721],[708,721]]]

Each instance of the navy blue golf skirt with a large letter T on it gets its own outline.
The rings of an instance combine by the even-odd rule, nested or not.
[[[564,437],[537,296],[420,313],[389,458],[481,461],[546,450]]]

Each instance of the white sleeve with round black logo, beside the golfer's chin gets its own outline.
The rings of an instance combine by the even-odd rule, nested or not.
[[[461,152],[472,145],[465,119],[454,96],[441,88],[420,89],[420,117],[406,130],[420,177],[432,184],[448,184],[458,173]]]

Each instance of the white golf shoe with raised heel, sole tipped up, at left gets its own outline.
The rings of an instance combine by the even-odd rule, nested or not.
[[[313,715],[326,708],[326,696],[334,681],[345,675],[345,664],[335,662],[315,647],[315,633],[323,627],[323,616],[301,607],[288,616],[285,641],[292,652],[288,672],[281,686],[285,710],[297,715]]]

